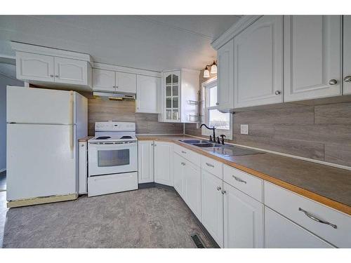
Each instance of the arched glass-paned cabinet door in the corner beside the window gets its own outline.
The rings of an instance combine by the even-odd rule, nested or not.
[[[180,71],[164,73],[166,121],[180,121]]]

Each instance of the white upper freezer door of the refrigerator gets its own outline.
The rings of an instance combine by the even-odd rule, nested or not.
[[[75,96],[64,90],[7,86],[7,122],[75,123]]]

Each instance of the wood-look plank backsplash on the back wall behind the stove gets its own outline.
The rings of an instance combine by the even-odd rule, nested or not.
[[[159,123],[157,114],[135,113],[133,100],[103,100],[88,97],[88,135],[95,133],[95,121],[131,121],[136,133],[183,134],[183,123]]]

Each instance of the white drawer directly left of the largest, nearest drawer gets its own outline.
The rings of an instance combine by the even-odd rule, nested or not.
[[[263,203],[263,180],[230,166],[223,166],[223,180]]]

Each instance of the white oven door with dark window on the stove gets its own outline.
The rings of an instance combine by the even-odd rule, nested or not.
[[[109,175],[138,170],[138,142],[89,142],[88,175]]]

